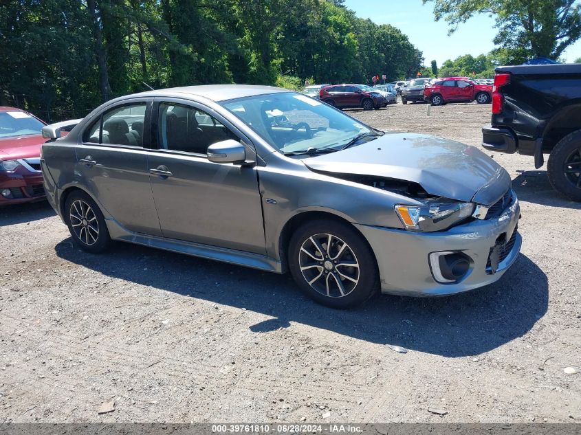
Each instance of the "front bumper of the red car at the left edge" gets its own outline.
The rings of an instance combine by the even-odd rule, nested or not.
[[[4,190],[10,190],[8,197]],[[20,167],[14,172],[0,172],[0,206],[28,203],[45,198],[43,175]]]

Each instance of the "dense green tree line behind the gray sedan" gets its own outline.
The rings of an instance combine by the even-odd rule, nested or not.
[[[340,0],[11,0],[0,104],[56,121],[153,87],[415,76],[421,52]]]

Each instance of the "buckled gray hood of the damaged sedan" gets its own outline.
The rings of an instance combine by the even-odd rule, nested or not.
[[[478,148],[430,135],[386,133],[336,153],[303,159],[320,172],[373,175],[418,183],[457,201],[492,204],[510,188],[510,176]]]

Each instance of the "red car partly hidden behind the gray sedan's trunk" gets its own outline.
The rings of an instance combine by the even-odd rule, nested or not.
[[[0,206],[45,197],[41,134],[45,123],[14,107],[0,107]]]

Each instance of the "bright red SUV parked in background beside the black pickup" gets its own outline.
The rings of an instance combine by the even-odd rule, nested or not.
[[[492,86],[479,85],[467,77],[439,78],[424,88],[424,100],[432,106],[474,100],[485,104],[492,101]]]

